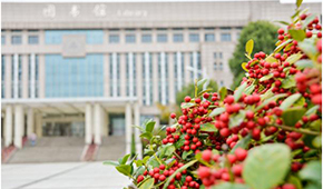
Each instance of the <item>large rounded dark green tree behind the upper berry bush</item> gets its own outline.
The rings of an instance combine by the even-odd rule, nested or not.
[[[253,39],[255,42],[254,51],[263,51],[270,53],[275,48],[277,39],[277,27],[268,21],[249,22],[241,32],[238,43],[235,48],[233,57],[229,59],[229,68],[234,74],[234,82],[232,89],[234,90],[239,86],[245,71],[242,69],[242,62],[247,62],[245,57],[245,43],[247,40]]]

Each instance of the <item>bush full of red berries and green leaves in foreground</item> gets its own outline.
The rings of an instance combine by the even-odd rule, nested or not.
[[[166,138],[155,122],[140,129],[144,158],[106,161],[129,177],[129,188],[319,189],[322,146],[322,33],[316,16],[300,9],[278,29],[273,53],[252,56],[232,93],[198,91],[185,97]],[[159,132],[158,131],[158,132]]]

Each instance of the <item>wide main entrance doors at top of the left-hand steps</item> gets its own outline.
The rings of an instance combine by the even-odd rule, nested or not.
[[[47,122],[42,127],[42,136],[84,137],[85,122]]]

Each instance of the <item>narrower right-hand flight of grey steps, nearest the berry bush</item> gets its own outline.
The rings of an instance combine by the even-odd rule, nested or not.
[[[102,143],[99,146],[97,161],[118,160],[125,156],[126,142],[125,136],[109,136],[102,138]]]

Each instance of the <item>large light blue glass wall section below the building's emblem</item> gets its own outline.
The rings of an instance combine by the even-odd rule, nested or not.
[[[46,97],[102,97],[104,56],[63,58],[46,54]]]

